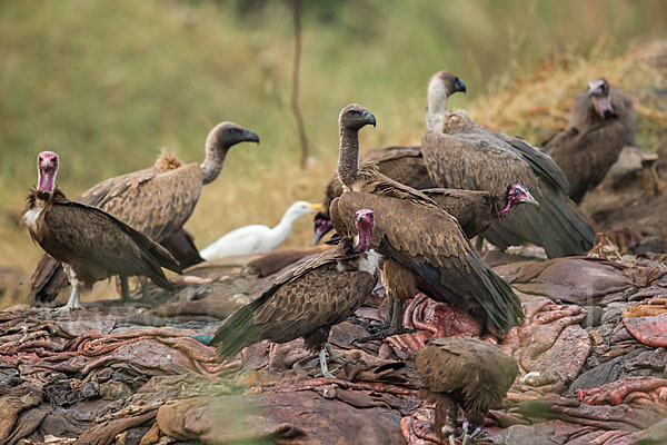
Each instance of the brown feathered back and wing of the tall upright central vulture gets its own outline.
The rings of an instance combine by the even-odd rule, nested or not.
[[[359,176],[369,175],[360,166]],[[507,283],[472,251],[454,217],[424,194],[376,175],[359,192],[348,191],[331,202],[337,230],[354,233],[355,209],[372,208],[378,218],[374,247],[425,280],[436,298],[487,318],[499,329],[522,318],[519,300]]]

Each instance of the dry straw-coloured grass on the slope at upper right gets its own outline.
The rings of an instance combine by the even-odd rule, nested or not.
[[[471,103],[470,113],[480,123],[537,144],[567,126],[574,96],[596,77],[634,96],[644,129],[638,145],[656,151],[653,136],[667,126],[667,111],[658,108],[653,89],[667,83],[667,41],[638,44],[615,58],[555,57],[507,87],[491,86],[497,93]]]

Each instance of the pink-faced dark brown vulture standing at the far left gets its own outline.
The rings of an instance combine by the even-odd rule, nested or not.
[[[72,284],[64,310],[79,308],[81,291],[115,275],[146,276],[163,289],[173,289],[160,267],[182,270],[167,249],[97,207],[68,200],[54,188],[57,154],[39,154],[37,171],[38,188],[26,199],[22,220],[32,239],[62,264]]]

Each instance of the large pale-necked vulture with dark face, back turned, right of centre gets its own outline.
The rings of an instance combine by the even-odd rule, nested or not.
[[[549,258],[580,255],[595,243],[595,230],[568,198],[568,181],[554,160],[528,142],[479,126],[465,111],[446,111],[456,76],[440,71],[428,86],[421,154],[440,188],[499,195],[519,182],[539,202],[497,219],[484,237],[501,249],[526,241]]]

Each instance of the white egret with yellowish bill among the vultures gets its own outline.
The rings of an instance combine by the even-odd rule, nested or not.
[[[321,209],[321,204],[296,201],[288,207],[276,227],[260,224],[240,227],[203,248],[201,257],[211,260],[231,255],[266,254],[276,250],[287,239],[297,219]]]

